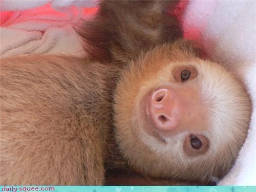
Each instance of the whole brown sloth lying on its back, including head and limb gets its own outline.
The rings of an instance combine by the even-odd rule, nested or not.
[[[1,60],[2,185],[102,185],[105,172],[126,168],[205,184],[229,171],[250,99],[225,68],[177,40],[177,20],[165,18],[173,5],[102,2],[80,31],[87,58]]]

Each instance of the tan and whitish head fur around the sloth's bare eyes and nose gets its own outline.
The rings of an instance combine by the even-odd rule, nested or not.
[[[193,65],[199,75],[185,83],[175,82],[172,70],[180,65]],[[199,59],[189,44],[178,41],[147,52],[131,63],[122,78],[115,96],[116,138],[130,166],[144,175],[203,183],[212,177],[222,178],[229,171],[246,138],[251,113],[249,96],[232,74],[217,63]],[[193,87],[200,89],[210,122],[206,131],[187,127],[182,133],[164,135],[166,143],[143,131],[139,102],[162,84],[183,89],[184,93]],[[183,142],[189,134],[209,139],[206,154],[184,154]]]

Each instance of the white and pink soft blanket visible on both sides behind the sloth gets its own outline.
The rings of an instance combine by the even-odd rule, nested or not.
[[[72,26],[84,18],[80,6],[91,7],[94,3],[1,0],[1,10],[17,11],[3,14],[8,19],[4,17],[0,28],[0,56],[35,53],[82,56],[81,41]],[[54,12],[51,6],[61,12]],[[27,10],[30,8],[36,9]],[[252,98],[248,137],[235,165],[219,184],[256,185],[256,2],[191,0],[183,23],[186,37],[201,42],[209,55],[242,78]]]

